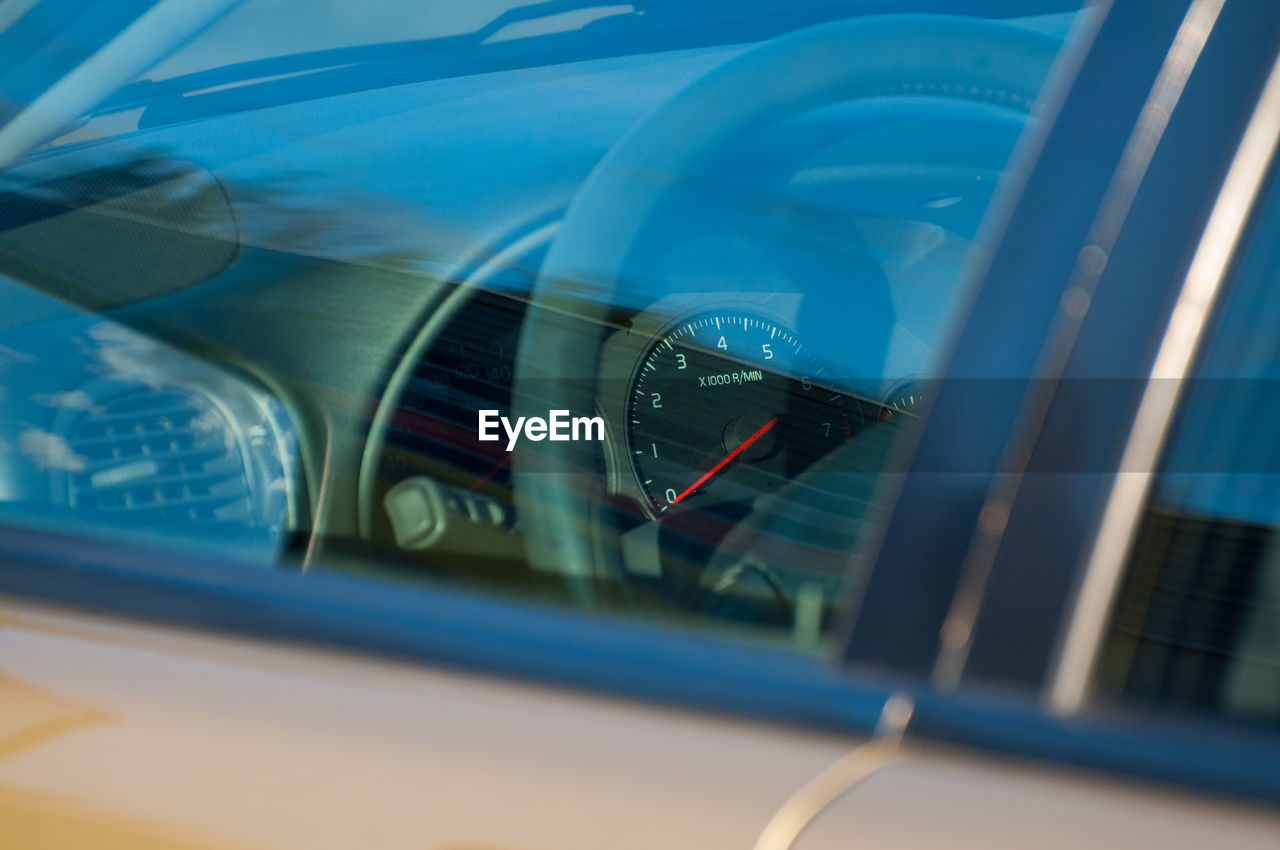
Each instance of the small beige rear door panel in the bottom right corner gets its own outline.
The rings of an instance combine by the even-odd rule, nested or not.
[[[852,786],[792,846],[1265,850],[1277,840],[1274,810],[936,749]]]

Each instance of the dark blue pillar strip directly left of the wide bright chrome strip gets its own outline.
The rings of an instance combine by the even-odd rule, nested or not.
[[[1105,251],[1105,268],[1096,275],[1087,309],[1074,323],[1064,323],[1070,337],[1060,369],[1037,376],[1046,405],[1019,435],[1021,466],[1000,470],[1006,480],[1020,479],[1012,498],[997,504],[1007,520],[992,531],[975,527],[970,547],[986,538],[980,540],[984,575],[965,623],[968,640],[950,670],[943,670],[948,662],[941,655],[933,670],[938,684],[1042,691],[1056,675],[1082,563],[1100,533],[1103,499],[1120,479],[1142,392],[1245,127],[1280,55],[1280,37],[1262,32],[1280,32],[1276,8],[1265,0],[1222,3],[1180,96],[1175,104],[1161,105],[1169,111],[1167,128],[1144,164],[1132,204],[1115,224],[1117,236]],[[1206,124],[1221,131],[1204,133]],[[1135,131],[1135,136],[1144,132]],[[1041,163],[1042,169],[1052,166]],[[1070,170],[1062,170],[1059,179],[1071,179]],[[1100,209],[1098,216],[1103,215],[1107,210]],[[1088,241],[1079,246],[1080,264],[1091,262],[1088,246]],[[1169,246],[1180,247],[1171,251]],[[1060,310],[1071,310],[1066,298]],[[1078,410],[1091,415],[1074,417]],[[1068,458],[1070,471],[1082,474],[1064,480],[1061,458]],[[993,488],[992,495],[984,509],[1004,494]],[[968,556],[973,557],[973,549]],[[1021,612],[1028,608],[1057,616],[1027,618]],[[1009,645],[1020,646],[1023,658],[1005,655],[1002,648]]]

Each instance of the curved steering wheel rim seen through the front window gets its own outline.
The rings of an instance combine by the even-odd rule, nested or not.
[[[637,239],[682,175],[718,147],[820,106],[879,96],[988,102],[1034,114],[1061,41],[950,15],[823,24],[755,46],[666,101],[582,184],[534,287],[516,358],[513,408],[591,415],[604,329]],[[513,457],[527,559],[591,599],[602,531],[590,443],[543,442]],[[607,538],[608,531],[603,531]]]

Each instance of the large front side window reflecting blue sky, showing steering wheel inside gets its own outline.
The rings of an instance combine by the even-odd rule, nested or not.
[[[0,172],[0,520],[822,646],[1076,24],[916,5],[248,0],[125,63]]]

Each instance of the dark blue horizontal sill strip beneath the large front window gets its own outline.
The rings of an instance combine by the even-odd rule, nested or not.
[[[334,567],[262,568],[0,524],[0,599],[869,734],[891,691],[815,653]]]

